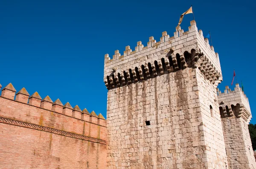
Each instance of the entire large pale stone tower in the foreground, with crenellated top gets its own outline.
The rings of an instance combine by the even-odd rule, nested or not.
[[[195,21],[174,37],[106,54],[108,168],[226,169],[221,80],[218,54]]]

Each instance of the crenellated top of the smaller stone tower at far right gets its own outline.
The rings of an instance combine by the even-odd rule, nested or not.
[[[231,90],[228,86],[225,88],[224,93],[221,93],[217,88],[221,117],[235,115],[237,118],[242,117],[249,124],[252,114],[249,100],[244,91],[239,87],[239,84],[236,84],[234,90]]]

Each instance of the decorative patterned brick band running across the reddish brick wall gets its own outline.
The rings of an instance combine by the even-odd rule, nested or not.
[[[64,132],[64,131],[52,129],[52,128],[49,128],[49,127],[42,127],[42,126],[38,126],[38,125],[35,125],[35,124],[24,123],[24,122],[12,120],[12,119],[9,119],[9,118],[0,117],[0,123],[12,124],[12,125],[15,125],[15,126],[20,126],[20,127],[27,127],[27,128],[30,128],[30,129],[41,130],[41,131],[45,131],[45,132],[52,132],[54,134],[64,135],[64,136],[72,137],[72,138],[78,138],[78,139],[86,140],[86,141],[92,141],[92,142],[100,143],[100,144],[107,144],[107,142],[105,140],[100,140],[100,139],[97,139],[97,138],[91,138],[91,137],[87,137],[87,136],[84,136],[84,135],[73,134],[71,132]]]

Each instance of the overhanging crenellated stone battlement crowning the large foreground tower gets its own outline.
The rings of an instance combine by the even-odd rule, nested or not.
[[[218,54],[194,20],[186,32],[177,26],[173,37],[164,31],[159,42],[149,37],[145,47],[139,41],[134,51],[126,46],[123,55],[116,50],[110,59],[106,54],[104,82],[111,89],[188,67],[201,70],[213,84],[222,80]]]

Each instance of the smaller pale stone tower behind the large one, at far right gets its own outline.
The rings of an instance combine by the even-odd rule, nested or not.
[[[224,93],[218,89],[217,92],[228,165],[231,169],[255,169],[256,162],[248,130],[252,118],[249,100],[239,84],[236,84],[233,91],[226,86]]]

